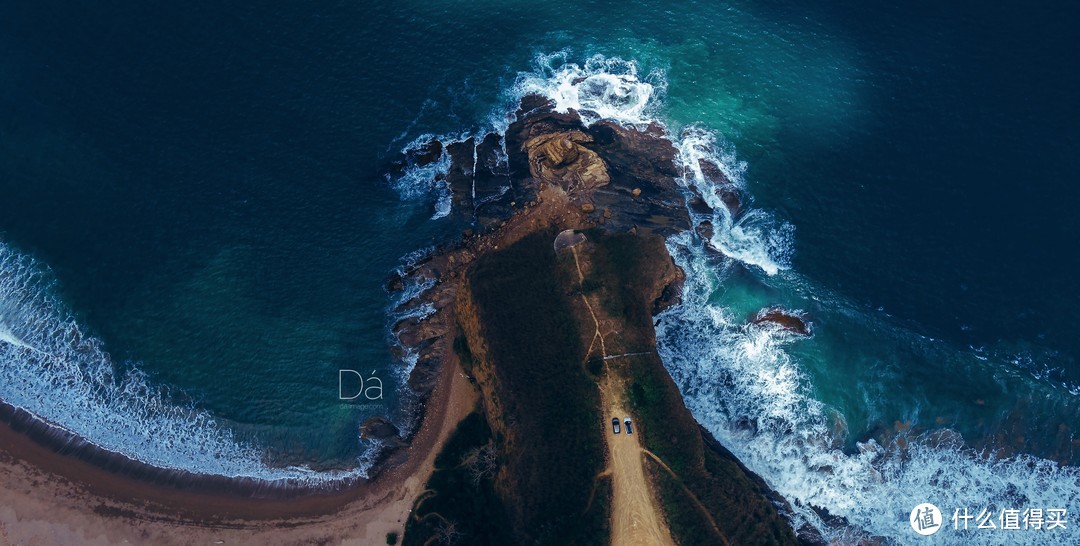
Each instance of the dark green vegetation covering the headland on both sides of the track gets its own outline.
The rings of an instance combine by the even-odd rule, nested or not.
[[[480,414],[469,423],[481,424],[462,423],[465,432],[440,454],[431,491],[417,503],[419,519],[410,521],[405,544],[443,540],[450,523],[449,531],[460,534],[449,534],[467,544],[609,543],[611,482],[596,479],[606,458],[596,378],[616,370],[630,379],[626,394],[636,432],[663,462],[649,459],[648,468],[679,544],[723,544],[725,538],[794,544],[762,483],[718,445],[706,443],[652,351],[652,298],[673,276],[663,240],[588,232],[592,267],[579,286],[573,255],[556,257],[554,236],[527,236],[477,258],[467,272],[465,294],[477,315],[468,324],[478,324],[480,331],[470,326],[473,330],[455,339],[454,349],[462,367],[488,390],[485,412],[494,432]],[[608,363],[596,354],[586,359],[580,329],[588,317],[575,316],[571,299],[582,291],[593,292],[609,314],[623,319],[619,337],[631,345],[623,349],[645,354]],[[470,349],[473,342],[483,343],[485,358]],[[473,466],[463,461],[482,449],[497,453],[498,477],[474,484],[469,478]],[[480,522],[483,527],[476,527]]]

